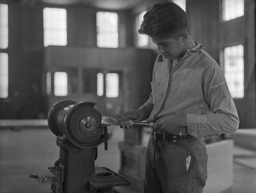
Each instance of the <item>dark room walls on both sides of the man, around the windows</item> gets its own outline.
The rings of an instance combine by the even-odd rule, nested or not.
[[[1,1],[6,3],[6,1]],[[132,11],[119,11],[120,47],[133,44],[134,16],[157,3],[156,0],[141,3]],[[23,6],[18,2],[9,5],[9,98],[0,100],[0,118],[28,118],[34,113],[24,110],[30,103],[31,88],[41,100],[43,46],[42,6]],[[245,1],[245,15],[228,22],[220,22],[219,0],[187,1],[189,33],[201,42],[207,52],[220,63],[220,51],[225,46],[242,42],[245,48],[245,97],[234,99],[240,116],[240,127],[255,127],[255,2]],[[95,13],[86,7],[68,7],[68,47],[96,46]],[[157,48],[150,41],[150,48]],[[0,50],[2,52],[2,50]],[[136,72],[135,72],[136,73]],[[130,76],[127,74],[126,76]],[[132,88],[131,88],[132,89]],[[131,90],[131,92],[133,92]],[[31,105],[31,104],[29,104]]]

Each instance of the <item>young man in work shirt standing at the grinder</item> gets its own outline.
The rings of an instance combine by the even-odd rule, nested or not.
[[[117,115],[148,118],[144,192],[200,193],[207,179],[204,139],[235,132],[236,107],[218,63],[187,32],[186,13],[176,4],[156,4],[140,34],[151,37],[159,55],[152,93],[138,109]]]

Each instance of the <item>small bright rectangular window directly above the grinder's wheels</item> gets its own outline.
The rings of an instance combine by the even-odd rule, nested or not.
[[[55,96],[68,95],[68,74],[66,72],[54,73],[54,95]]]

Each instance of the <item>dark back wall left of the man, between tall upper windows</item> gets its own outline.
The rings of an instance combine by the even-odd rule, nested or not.
[[[30,7],[18,1],[0,0],[0,3],[8,4],[9,9],[9,47],[0,50],[9,55],[9,97],[0,99],[0,119],[38,118],[41,116],[38,112],[45,111],[41,78],[45,49],[44,6]],[[96,12],[99,10],[82,6],[60,8],[67,9],[67,47],[96,47]],[[118,14],[119,47],[130,47],[132,21],[129,11],[121,10]]]

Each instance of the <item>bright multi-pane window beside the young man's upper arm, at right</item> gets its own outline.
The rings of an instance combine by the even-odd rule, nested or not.
[[[233,98],[244,97],[244,47],[224,48],[224,75]]]

